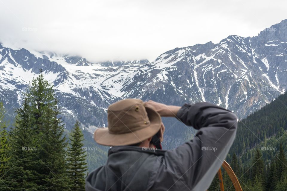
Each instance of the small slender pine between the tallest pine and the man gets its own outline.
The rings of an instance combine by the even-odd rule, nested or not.
[[[87,171],[86,151],[83,150],[83,133],[77,121],[71,132],[71,143],[68,148],[68,177],[72,191],[85,190],[85,172]]]

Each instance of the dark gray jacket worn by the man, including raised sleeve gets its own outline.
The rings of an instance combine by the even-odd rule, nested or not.
[[[172,150],[112,147],[106,165],[86,178],[86,190],[207,190],[234,141],[236,115],[203,102],[184,104],[177,118],[198,130],[192,140]]]

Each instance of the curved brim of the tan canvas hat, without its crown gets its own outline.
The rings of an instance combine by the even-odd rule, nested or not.
[[[137,131],[123,134],[111,134],[108,127],[94,132],[94,140],[101,145],[121,146],[142,142],[155,135],[161,128],[161,116],[152,108],[145,106],[150,125]]]

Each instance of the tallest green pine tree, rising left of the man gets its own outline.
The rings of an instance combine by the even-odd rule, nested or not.
[[[37,168],[37,184],[44,190],[68,190],[64,124],[58,118],[60,112],[53,86],[42,73],[29,85],[27,98],[33,116],[33,130],[38,135],[37,157],[42,161]]]

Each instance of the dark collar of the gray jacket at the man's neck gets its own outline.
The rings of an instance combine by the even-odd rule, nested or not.
[[[142,147],[136,147],[136,146],[115,146],[109,150],[108,156],[113,153],[117,153],[121,151],[138,151],[141,153],[149,153],[153,155],[164,155],[166,152],[166,150],[159,150],[159,149],[158,150],[143,150]]]

